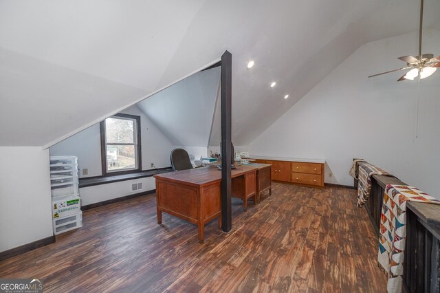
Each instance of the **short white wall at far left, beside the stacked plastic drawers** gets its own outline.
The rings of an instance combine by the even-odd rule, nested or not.
[[[1,146],[0,252],[53,235],[49,150]]]

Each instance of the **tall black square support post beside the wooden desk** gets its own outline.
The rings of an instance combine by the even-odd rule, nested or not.
[[[232,54],[221,56],[221,226],[224,232],[232,228],[231,208],[231,109]]]

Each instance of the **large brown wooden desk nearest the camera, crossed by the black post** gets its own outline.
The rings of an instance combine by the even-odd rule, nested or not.
[[[234,196],[245,198],[243,204],[248,198],[256,197],[256,171],[252,166],[237,166],[231,171]],[[154,177],[157,224],[162,224],[162,212],[185,219],[197,225],[200,243],[203,243],[206,223],[217,218],[221,228],[221,171],[217,167],[206,166]]]

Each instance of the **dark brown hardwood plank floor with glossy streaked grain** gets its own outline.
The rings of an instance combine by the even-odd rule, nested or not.
[[[0,262],[0,278],[43,278],[45,292],[385,292],[377,237],[355,191],[274,183],[232,230],[168,214],[155,195],[86,210],[83,228]]]

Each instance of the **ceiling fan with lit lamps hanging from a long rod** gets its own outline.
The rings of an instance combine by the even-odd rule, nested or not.
[[[431,76],[436,70],[437,67],[440,67],[440,55],[434,57],[433,54],[421,54],[421,28],[423,24],[423,0],[420,1],[420,23],[419,23],[419,56],[401,56],[398,59],[406,62],[406,67],[401,67],[399,69],[390,70],[389,72],[382,72],[380,74],[374,74],[369,77],[378,76],[382,74],[388,74],[391,72],[397,72],[400,70],[410,69],[410,71],[406,72],[401,78],[397,81],[401,80],[414,80],[417,76],[421,79]]]

